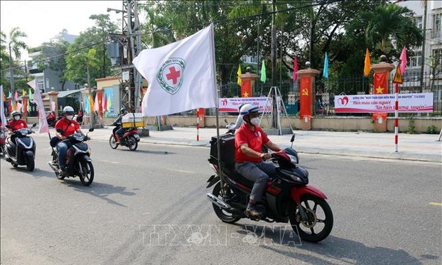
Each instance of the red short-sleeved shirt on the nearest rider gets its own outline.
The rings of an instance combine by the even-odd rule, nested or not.
[[[247,144],[249,148],[262,152],[262,145],[269,142],[269,137],[264,131],[255,125],[255,131],[243,123],[241,127],[235,132],[235,162],[262,162],[262,159],[257,157],[246,156],[239,147]]]

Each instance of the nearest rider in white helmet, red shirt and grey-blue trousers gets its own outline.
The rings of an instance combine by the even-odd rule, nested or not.
[[[260,108],[253,104],[244,104],[240,110],[244,123],[235,134],[235,169],[246,179],[255,182],[246,209],[246,213],[253,217],[264,213],[264,207],[259,204],[269,176],[276,174],[276,165],[264,162],[271,154],[262,153],[262,145],[272,151],[281,151],[281,147],[270,141],[258,125],[259,110]]]

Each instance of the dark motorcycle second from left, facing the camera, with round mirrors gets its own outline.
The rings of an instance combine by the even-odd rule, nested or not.
[[[90,128],[89,132],[93,132],[94,128]],[[62,129],[58,129],[58,132],[63,133]],[[88,133],[89,133],[88,132]],[[91,149],[86,144],[88,140],[88,133],[81,135],[81,133],[74,133],[69,135],[66,140],[71,144],[71,147],[66,152],[66,168],[67,172],[63,172],[58,165],[58,150],[52,147],[52,161],[48,164],[54,170],[55,176],[58,179],[65,179],[65,177],[80,178],[81,184],[89,186],[93,182],[94,169],[91,160]]]

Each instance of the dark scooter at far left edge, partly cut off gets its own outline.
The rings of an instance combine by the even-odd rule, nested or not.
[[[36,123],[32,124],[32,128],[36,126]],[[10,128],[6,125],[6,128]],[[31,128],[31,129],[32,129]],[[35,147],[34,139],[29,135],[34,132],[28,128],[22,128],[15,130],[6,139],[4,146],[4,155],[6,161],[11,163],[14,168],[18,165],[26,165],[28,171],[33,171],[35,168]],[[14,139],[12,140],[11,137]]]

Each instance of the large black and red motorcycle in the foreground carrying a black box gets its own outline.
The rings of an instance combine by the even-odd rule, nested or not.
[[[309,242],[319,242],[330,234],[333,212],[326,202],[327,196],[314,186],[307,186],[309,172],[297,165],[299,157],[293,149],[294,140],[295,135],[290,140],[291,147],[272,153],[270,160],[277,165],[277,174],[271,177],[264,191],[262,203],[266,212],[253,217],[247,215],[245,210],[254,182],[250,182],[234,168],[234,137],[220,135],[220,163],[217,159],[217,137],[212,137],[208,161],[215,175],[208,179],[207,188],[215,186],[207,196],[212,202],[215,215],[222,222],[233,224],[241,218],[290,222],[295,233]],[[219,166],[222,168],[221,176]]]

